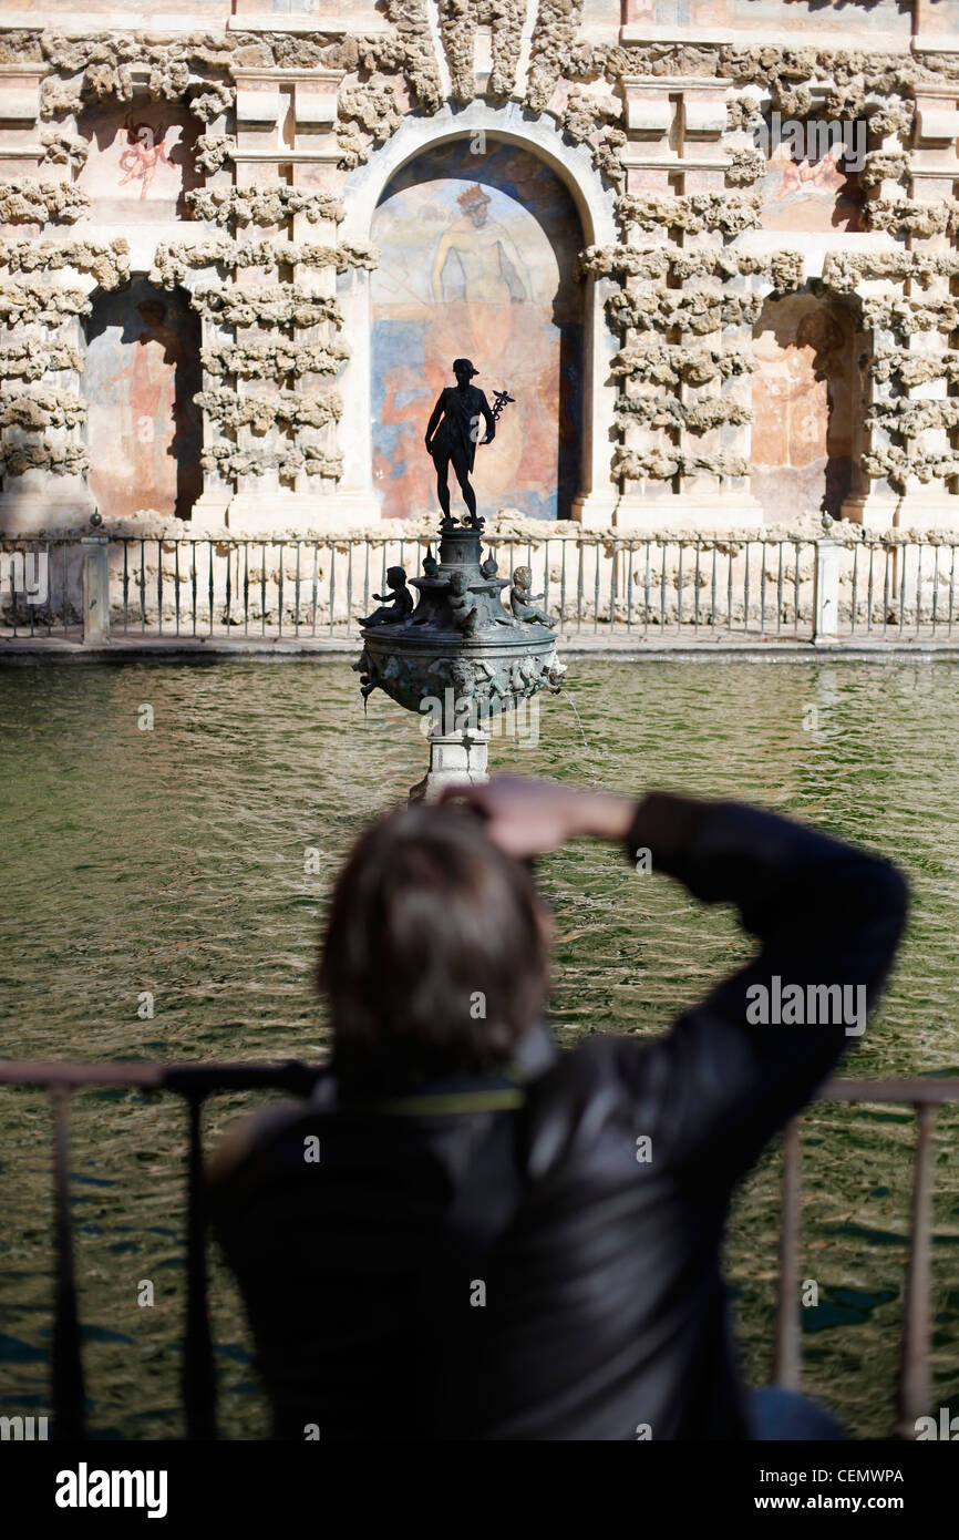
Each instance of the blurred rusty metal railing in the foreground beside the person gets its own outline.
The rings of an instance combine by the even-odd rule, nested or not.
[[[88,1087],[128,1087],[172,1092],[186,1106],[186,1317],[183,1334],[182,1392],[188,1438],[214,1438],[217,1392],[206,1297],[206,1214],[203,1194],[202,1109],[216,1092],[286,1090],[308,1096],[325,1070],[319,1066],[285,1064],[52,1064],[0,1063],[0,1084],[46,1090],[54,1115],[55,1203],[55,1318],[51,1361],[52,1437],[83,1438],[85,1378],[74,1281],[72,1223],[69,1203],[69,1096]],[[933,1227],[933,1130],[936,1107],[959,1101],[959,1076],[930,1080],[831,1080],[816,1101],[879,1103],[910,1106],[917,1116],[913,1200],[899,1355],[897,1429],[916,1435],[916,1418],[927,1414],[931,1398],[931,1227]],[[800,1150],[799,1123],[785,1130],[782,1210],[779,1238],[779,1287],[776,1317],[774,1378],[799,1389],[800,1383]]]

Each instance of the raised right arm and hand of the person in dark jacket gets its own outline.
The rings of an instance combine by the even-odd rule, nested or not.
[[[736,906],[759,939],[756,956],[665,1036],[611,1040],[611,1052],[636,1098],[636,1124],[660,1157],[703,1178],[745,1172],[862,1033],[905,922],[901,873],[737,802],[654,793],[630,804],[542,782],[497,790],[496,781],[468,799],[519,858],[594,835],[622,842],[631,861],[650,852],[653,872],[702,902]],[[802,1015],[791,1021],[797,998]],[[828,1019],[810,1021],[810,1001]]]

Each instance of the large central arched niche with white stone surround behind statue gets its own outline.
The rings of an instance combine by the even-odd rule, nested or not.
[[[476,186],[490,199],[482,236],[490,253],[479,263],[466,253],[466,271],[463,251],[453,249],[465,231],[454,233],[436,276],[442,279],[437,303],[436,259],[448,231],[471,217],[459,199]],[[402,225],[391,219],[394,209],[400,214],[396,200],[406,203],[406,239],[416,248],[405,259],[402,239],[391,248]],[[346,508],[354,499],[357,514],[368,517],[437,507],[423,431],[439,388],[453,383],[453,359],[465,354],[480,371],[477,385],[488,393],[508,387],[517,397],[500,419],[502,444],[493,445],[488,459],[485,450],[477,453],[480,510],[520,507],[543,517],[611,522],[617,491],[610,477],[616,402],[610,359],[616,339],[603,313],[608,285],[573,277],[579,249],[616,240],[613,194],[602,186],[588,146],[565,145],[551,120],[531,120],[514,103],[497,109],[477,102],[462,112],[446,108],[431,119],[408,119],[353,174],[345,206],[342,239],[385,248],[386,265],[373,276],[353,270],[337,285],[351,346],[340,380],[345,428],[337,500]],[[490,225],[511,240],[494,240]],[[520,271],[517,283],[523,266],[533,282]],[[393,302],[385,288],[391,274]],[[446,314],[433,314],[440,310]],[[396,480],[408,493],[389,485]],[[406,502],[413,505],[402,508]]]

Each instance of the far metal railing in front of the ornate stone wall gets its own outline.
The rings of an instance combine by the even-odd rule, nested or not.
[[[562,636],[636,641],[944,642],[959,631],[956,545],[545,533],[491,536],[502,576],[533,568]],[[388,567],[420,571],[429,541],[0,537],[9,641],[354,638]],[[37,598],[25,573],[43,568]],[[959,636],[957,636],[959,641]]]

